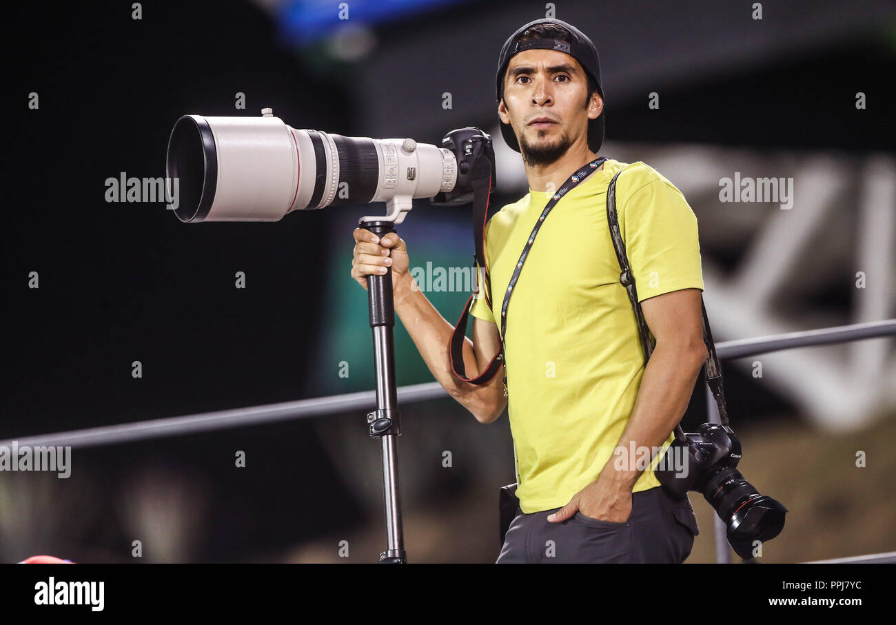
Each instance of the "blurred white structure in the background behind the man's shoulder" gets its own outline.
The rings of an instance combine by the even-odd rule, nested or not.
[[[522,195],[521,157],[495,127],[498,189]],[[896,163],[886,155],[737,150],[605,142],[602,156],[642,160],[675,184],[697,215],[704,297],[717,342],[896,317]],[[720,181],[792,178],[793,205],[719,201]],[[598,207],[599,208],[599,207]],[[707,248],[728,247],[725,270]],[[864,281],[864,287],[861,287]],[[847,312],[813,292],[849,288]],[[892,338],[791,349],[735,361],[831,430],[862,427],[896,406]]]

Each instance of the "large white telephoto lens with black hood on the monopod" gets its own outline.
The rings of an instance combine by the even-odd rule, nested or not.
[[[183,116],[166,168],[185,222],[278,221],[291,210],[433,197],[457,182],[451,150],[297,130],[274,116]]]

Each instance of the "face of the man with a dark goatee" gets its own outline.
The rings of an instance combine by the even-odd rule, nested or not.
[[[603,101],[588,98],[588,76],[572,56],[556,50],[524,50],[511,58],[504,74],[498,116],[511,124],[522,158],[548,165],[576,141],[588,144],[588,122]]]

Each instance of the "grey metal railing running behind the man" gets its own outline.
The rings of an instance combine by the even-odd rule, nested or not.
[[[820,330],[806,330],[790,332],[771,337],[745,338],[741,340],[726,341],[716,345],[716,355],[719,361],[745,358],[751,355],[768,354],[793,347],[810,347],[828,345],[831,343],[843,343],[864,338],[880,338],[896,335],[896,319],[885,321],[869,321],[855,323],[846,326],[823,328]],[[716,406],[709,389],[706,390],[709,419],[719,423],[719,408]],[[449,397],[448,393],[438,382],[414,384],[400,387],[398,399],[400,403],[427,401]],[[210,432],[247,425],[271,424],[279,421],[302,419],[344,413],[358,410],[358,406],[374,405],[375,391],[365,390],[357,393],[347,393],[332,397],[299,399],[279,404],[265,406],[235,408],[231,410],[219,410],[216,412],[202,413],[199,415],[184,415],[163,419],[151,419],[137,421],[129,424],[107,425],[68,432],[55,432],[50,434],[38,434],[23,438],[0,441],[0,446],[10,447],[15,441],[20,447],[44,446],[71,446],[72,448],[86,449],[102,445],[115,445],[124,442],[145,441],[164,436],[177,436],[183,434],[195,434]],[[726,536],[725,524],[718,517],[715,518],[716,537],[716,561],[730,563],[731,552]],[[870,561],[896,561],[896,552],[877,553],[854,558],[842,558],[819,562],[870,562]]]

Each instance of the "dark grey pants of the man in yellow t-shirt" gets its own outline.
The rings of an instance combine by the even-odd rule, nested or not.
[[[517,507],[496,563],[681,563],[700,534],[691,502],[675,501],[659,486],[632,494],[625,523],[579,511],[565,521],[548,521],[558,509],[524,514]]]

